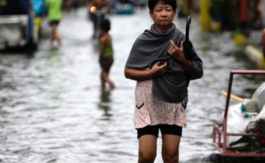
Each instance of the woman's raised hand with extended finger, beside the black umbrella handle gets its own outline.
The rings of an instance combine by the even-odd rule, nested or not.
[[[178,61],[185,60],[183,41],[181,41],[180,43],[180,48],[172,40],[170,40],[170,43],[171,46],[168,51],[170,55],[175,59],[177,59]]]

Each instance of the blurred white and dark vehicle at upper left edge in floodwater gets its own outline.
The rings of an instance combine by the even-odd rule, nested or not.
[[[0,49],[35,48],[38,27],[30,0],[0,0]]]

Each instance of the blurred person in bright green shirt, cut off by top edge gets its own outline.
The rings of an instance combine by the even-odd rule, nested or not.
[[[59,36],[57,27],[60,20],[62,19],[62,5],[62,0],[46,0],[48,21],[52,28],[50,43],[54,42],[54,40],[57,40],[59,45],[61,45],[61,38]]]

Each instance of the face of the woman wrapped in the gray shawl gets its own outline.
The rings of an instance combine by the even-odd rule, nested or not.
[[[149,11],[151,19],[156,27],[171,28],[171,23],[176,16],[177,11],[173,11],[171,5],[166,5],[162,1],[158,2],[153,9]]]

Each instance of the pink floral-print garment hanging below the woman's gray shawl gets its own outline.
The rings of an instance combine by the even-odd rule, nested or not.
[[[186,111],[180,103],[169,103],[152,94],[152,80],[137,82],[135,88],[135,129],[147,125],[178,125],[187,127]]]

